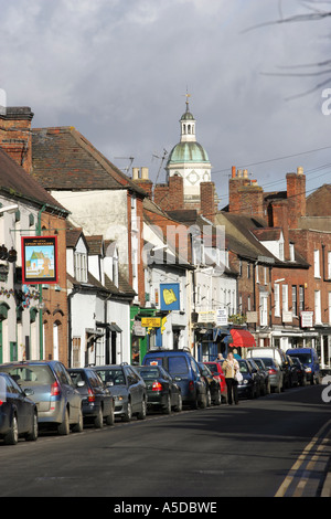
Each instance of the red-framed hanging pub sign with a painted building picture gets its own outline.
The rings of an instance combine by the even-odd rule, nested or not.
[[[57,236],[22,236],[22,282],[57,283]]]

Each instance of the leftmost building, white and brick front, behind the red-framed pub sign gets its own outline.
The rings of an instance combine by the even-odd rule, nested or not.
[[[17,253],[13,261],[0,261],[0,362],[60,359],[67,364],[67,211],[10,155],[0,142],[1,243]],[[41,234],[57,236],[56,285],[22,283],[21,237]]]

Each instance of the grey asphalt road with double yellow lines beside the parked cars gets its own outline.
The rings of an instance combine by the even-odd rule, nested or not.
[[[331,455],[322,389],[1,444],[0,496],[319,496]]]

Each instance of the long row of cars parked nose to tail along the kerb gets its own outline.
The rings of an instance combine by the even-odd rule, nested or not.
[[[277,360],[238,359],[243,375],[239,398],[258,398],[285,389]],[[298,358],[288,358],[288,386],[306,385]],[[94,366],[66,369],[58,361],[18,361],[0,364],[0,438],[14,445],[19,437],[36,441],[39,431],[60,435],[102,428],[149,412],[170,414],[183,405],[204,409],[227,401],[222,362],[196,362],[189,350],[151,350],[142,366]]]

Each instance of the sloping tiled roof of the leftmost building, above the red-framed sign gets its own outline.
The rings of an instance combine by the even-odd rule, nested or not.
[[[40,183],[26,173],[9,155],[0,147],[0,189],[11,197],[28,199],[38,204],[49,204],[60,211],[68,212]]]

